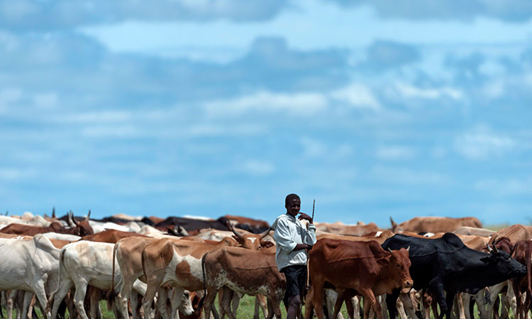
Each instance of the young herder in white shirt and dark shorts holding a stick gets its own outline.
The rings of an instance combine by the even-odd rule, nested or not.
[[[284,305],[288,307],[287,319],[294,319],[301,310],[306,284],[307,250],[316,243],[316,226],[311,216],[299,213],[301,199],[296,194],[289,194],[284,200],[287,213],[275,220],[272,229],[277,242],[275,263],[279,272],[287,278],[287,291],[284,293]],[[296,218],[299,213],[299,217]],[[305,226],[300,220],[308,220]]]

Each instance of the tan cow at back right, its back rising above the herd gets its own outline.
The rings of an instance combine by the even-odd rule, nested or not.
[[[405,231],[413,233],[450,233],[461,226],[482,228],[482,223],[476,217],[414,217],[397,225],[393,218],[389,218],[392,223],[392,232],[403,233]]]

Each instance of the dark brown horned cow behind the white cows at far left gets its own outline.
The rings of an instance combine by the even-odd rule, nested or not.
[[[65,228],[60,223],[54,222],[51,223],[48,227],[39,227],[31,225],[22,225],[22,224],[9,224],[6,227],[0,229],[0,233],[4,234],[17,234],[17,235],[28,235],[33,236],[43,233],[60,233],[60,234],[70,234],[77,236],[85,236],[94,234],[91,225],[89,225],[89,216],[81,222],[72,220],[72,215],[69,213],[69,221],[72,221],[71,228]]]

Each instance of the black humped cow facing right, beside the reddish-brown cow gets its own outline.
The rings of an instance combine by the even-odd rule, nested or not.
[[[516,276],[524,276],[526,267],[497,249],[491,253],[477,252],[464,245],[453,233],[438,239],[394,235],[383,244],[384,250],[410,247],[410,274],[414,289],[429,289],[440,305],[440,318],[450,319],[455,293],[477,293]],[[445,291],[447,298],[445,298]],[[395,318],[399,290],[387,295],[390,318]]]

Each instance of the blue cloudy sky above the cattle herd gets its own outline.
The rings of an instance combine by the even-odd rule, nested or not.
[[[0,209],[532,216],[532,5],[0,1]]]

